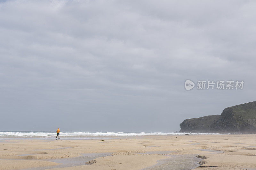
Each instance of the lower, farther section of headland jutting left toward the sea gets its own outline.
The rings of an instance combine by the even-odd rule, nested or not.
[[[180,123],[180,132],[205,133],[210,131],[212,123],[218,121],[220,115],[186,119]]]

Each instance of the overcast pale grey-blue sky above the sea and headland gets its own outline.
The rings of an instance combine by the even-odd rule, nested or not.
[[[256,1],[0,1],[0,131],[174,132],[255,101]],[[185,90],[189,79],[243,89]]]

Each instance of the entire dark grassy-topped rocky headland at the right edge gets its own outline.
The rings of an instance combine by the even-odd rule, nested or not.
[[[186,119],[180,132],[256,133],[256,101],[225,108],[221,115]]]

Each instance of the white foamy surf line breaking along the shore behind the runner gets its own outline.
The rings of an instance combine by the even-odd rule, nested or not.
[[[0,137],[52,137],[56,132],[7,132],[0,131]],[[86,136],[150,136],[150,135],[227,135],[219,133],[163,133],[163,132],[61,132],[61,137]]]

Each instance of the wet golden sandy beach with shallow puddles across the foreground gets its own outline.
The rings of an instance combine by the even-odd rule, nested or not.
[[[182,169],[182,162],[187,161],[185,155],[198,157],[199,164],[196,161],[192,165],[196,169],[254,169],[256,136],[177,135],[83,140],[0,140],[0,169],[158,169],[156,165],[160,162],[172,161],[177,156],[181,159],[181,165],[176,168]],[[78,158],[80,163],[75,164]],[[65,161],[71,163],[64,167],[62,164]]]

